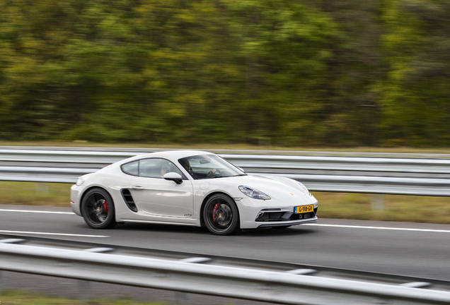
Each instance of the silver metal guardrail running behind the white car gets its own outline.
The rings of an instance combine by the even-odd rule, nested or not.
[[[164,149],[0,147],[0,180],[74,183],[118,160]],[[213,151],[213,150],[209,150]],[[302,181],[311,191],[450,196],[450,155],[230,150],[221,157],[251,174],[276,174]],[[267,153],[267,155],[260,155]],[[332,153],[332,152],[329,152]],[[269,155],[270,154],[270,155]],[[357,155],[357,157],[342,155]],[[373,155],[369,154],[369,155]],[[391,154],[388,154],[391,155]],[[430,158],[433,157],[433,158]]]

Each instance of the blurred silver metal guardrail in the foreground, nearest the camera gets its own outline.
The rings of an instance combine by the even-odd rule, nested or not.
[[[422,283],[386,285],[313,277],[304,270],[277,272],[206,265],[209,259],[162,260],[9,244],[0,241],[0,270],[208,294],[275,304],[450,304],[450,292],[420,289]],[[87,286],[88,287],[88,286]]]

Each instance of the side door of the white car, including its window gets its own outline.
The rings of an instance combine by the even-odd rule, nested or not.
[[[167,172],[183,177],[181,184],[163,178]],[[171,161],[161,158],[139,160],[139,177],[129,184],[137,209],[162,217],[192,218],[192,182]]]

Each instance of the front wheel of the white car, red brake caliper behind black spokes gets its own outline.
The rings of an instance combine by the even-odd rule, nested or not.
[[[239,229],[239,210],[233,199],[216,194],[203,208],[204,225],[215,235],[230,235]]]

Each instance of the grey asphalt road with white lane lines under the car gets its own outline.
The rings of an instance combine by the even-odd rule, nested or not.
[[[203,228],[169,225],[125,224],[96,230],[69,208],[0,205],[0,234],[450,280],[450,225],[320,219],[318,225],[217,237]]]

